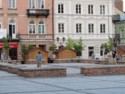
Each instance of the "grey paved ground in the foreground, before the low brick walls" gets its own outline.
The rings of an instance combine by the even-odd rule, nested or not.
[[[0,94],[124,94],[125,75],[23,78],[0,71]]]

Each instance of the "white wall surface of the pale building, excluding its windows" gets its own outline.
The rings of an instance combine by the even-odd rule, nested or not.
[[[64,4],[63,14],[58,14],[58,3]],[[100,45],[108,40],[108,36],[112,36],[112,34],[114,34],[114,26],[112,23],[112,15],[114,14],[113,3],[114,3],[113,0],[55,0],[55,7],[54,7],[55,40],[57,37],[65,37],[66,39],[68,38],[68,36],[71,37],[72,39],[79,39],[81,37],[84,40],[84,44],[86,46],[85,50],[83,51],[83,57],[88,58],[89,46],[94,46],[94,47],[98,46],[100,48]],[[81,14],[75,13],[76,4],[82,5]],[[94,5],[94,14],[92,15],[88,14],[89,4]],[[105,5],[106,7],[105,15],[100,15],[100,5]],[[65,25],[64,34],[58,33],[59,22],[64,23]],[[80,34],[76,34],[75,32],[76,23],[82,24],[82,33]],[[89,23],[93,23],[95,25],[94,34],[88,33]],[[106,24],[105,34],[100,34],[101,23]]]

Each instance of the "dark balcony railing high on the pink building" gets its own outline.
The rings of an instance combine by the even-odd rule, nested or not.
[[[49,15],[49,9],[27,9],[27,15],[29,16],[45,16]]]

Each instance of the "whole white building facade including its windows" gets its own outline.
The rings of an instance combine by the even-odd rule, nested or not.
[[[112,15],[114,0],[55,0],[55,43],[65,46],[69,37],[82,38],[85,45],[82,58],[91,58],[94,52],[96,58],[101,59],[104,55],[101,44],[114,35]]]

